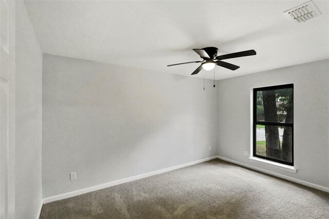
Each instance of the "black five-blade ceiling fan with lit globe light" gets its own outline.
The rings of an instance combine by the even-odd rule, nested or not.
[[[200,55],[201,58],[203,58],[203,61],[194,61],[194,62],[187,62],[187,63],[178,63],[178,64],[173,64],[173,65],[168,65],[168,66],[175,66],[175,65],[182,65],[182,64],[188,64],[188,63],[201,63],[201,65],[193,71],[192,74],[197,74],[199,73],[202,69],[205,70],[211,70],[213,69],[216,65],[217,66],[222,66],[224,68],[230,69],[232,71],[240,68],[240,66],[236,66],[230,63],[223,62],[221,60],[223,59],[228,59],[228,58],[237,58],[237,57],[243,57],[243,56],[249,56],[249,55],[255,55],[256,51],[252,50],[246,50],[242,52],[234,52],[230,54],[225,54],[225,55],[219,55],[217,56],[218,49],[216,47],[206,47],[203,49],[193,49],[194,52]]]

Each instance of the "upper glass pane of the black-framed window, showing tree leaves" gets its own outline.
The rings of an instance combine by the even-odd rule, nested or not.
[[[258,122],[293,123],[293,88],[256,92]]]

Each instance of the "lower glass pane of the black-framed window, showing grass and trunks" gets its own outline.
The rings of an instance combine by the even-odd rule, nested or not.
[[[293,128],[256,126],[256,155],[291,163],[293,160]]]

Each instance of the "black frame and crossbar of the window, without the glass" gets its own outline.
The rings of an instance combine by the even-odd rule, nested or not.
[[[293,123],[275,123],[275,122],[260,122],[257,121],[257,92],[258,91],[263,91],[263,90],[277,90],[277,89],[285,89],[285,88],[293,88]],[[289,166],[294,166],[294,84],[285,84],[285,85],[276,85],[276,86],[270,86],[270,87],[260,87],[260,88],[254,88],[253,89],[253,103],[252,103],[252,107],[253,107],[253,156],[255,157],[259,157],[265,160],[269,160],[269,161],[273,161],[273,162],[277,162],[277,163],[281,163],[281,164],[285,164],[285,165],[289,165]],[[286,126],[286,127],[291,127],[291,132],[292,134],[292,139],[291,139],[291,163],[290,162],[286,162],[286,161],[282,161],[282,160],[277,160],[275,158],[271,158],[271,157],[266,157],[266,156],[261,156],[261,155],[257,155],[256,154],[256,146],[257,146],[257,125],[271,125],[271,126]]]

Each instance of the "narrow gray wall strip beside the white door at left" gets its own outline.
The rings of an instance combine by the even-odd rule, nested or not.
[[[42,51],[23,1],[16,2],[15,218],[36,218],[42,202]]]

